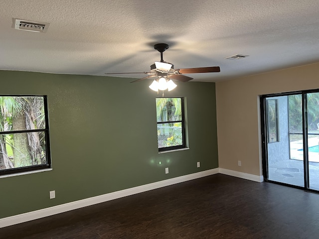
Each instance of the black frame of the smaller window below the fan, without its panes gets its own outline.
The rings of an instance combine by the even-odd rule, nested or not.
[[[157,97],[156,99],[160,99],[160,98],[166,98],[166,99],[178,98],[178,99],[180,99],[180,104],[181,104],[181,120],[173,120],[173,121],[158,121],[158,120],[157,120],[157,125],[163,124],[163,123],[181,122],[182,144],[181,144],[181,145],[175,145],[175,146],[167,146],[167,147],[159,147],[159,145],[158,145],[159,152],[171,151],[171,150],[186,148],[184,97]],[[158,143],[159,143],[159,142],[158,142]]]

